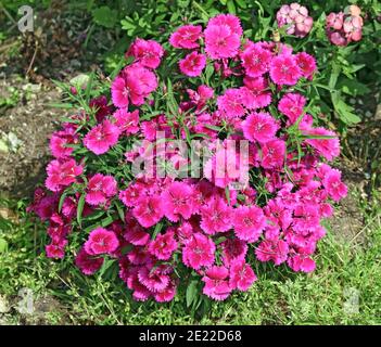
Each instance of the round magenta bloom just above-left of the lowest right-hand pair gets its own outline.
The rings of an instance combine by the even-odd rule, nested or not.
[[[209,267],[214,264],[215,250],[216,245],[209,237],[201,233],[194,233],[182,248],[182,261],[194,270]]]

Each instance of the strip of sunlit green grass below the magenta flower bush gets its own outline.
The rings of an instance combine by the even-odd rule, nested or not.
[[[204,307],[204,312],[191,314],[180,300],[181,293],[166,305],[134,303],[120,281],[110,282],[101,275],[85,278],[69,266],[71,258],[47,259],[39,254],[45,242],[41,226],[25,215],[23,202],[9,207],[16,210],[18,221],[0,219],[0,240],[8,244],[0,253],[0,296],[12,307],[20,300],[18,290],[30,288],[37,313],[21,314],[13,307],[0,313],[0,323],[381,323],[381,221],[374,208],[357,239],[360,243],[345,241],[340,231],[329,231],[319,243],[314,273],[257,264],[258,281],[247,293],[237,293],[224,303]],[[38,312],[42,298],[50,306]]]

